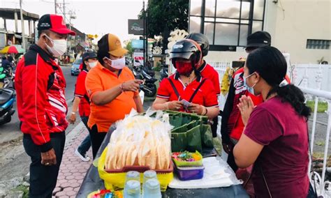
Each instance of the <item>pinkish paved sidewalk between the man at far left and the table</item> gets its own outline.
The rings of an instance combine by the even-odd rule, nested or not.
[[[53,197],[76,197],[87,169],[91,166],[92,160],[83,162],[74,152],[88,133],[87,128],[80,122],[66,136],[64,156],[61,162],[59,176],[57,177],[57,188],[54,189]],[[87,152],[87,155],[92,158],[91,148]]]

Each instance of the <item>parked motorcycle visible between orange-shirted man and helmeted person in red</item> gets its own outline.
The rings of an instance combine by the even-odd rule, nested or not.
[[[156,95],[156,78],[147,74],[145,70],[142,69],[142,65],[133,66],[132,68],[133,75],[135,79],[142,79],[144,82],[141,84],[140,89],[144,91],[145,96],[153,97]]]

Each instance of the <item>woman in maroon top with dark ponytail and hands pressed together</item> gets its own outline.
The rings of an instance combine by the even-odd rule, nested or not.
[[[254,164],[256,197],[307,197],[309,190],[307,120],[310,108],[300,89],[286,82],[286,61],[275,47],[251,52],[244,81],[263,103],[242,96],[238,105],[245,129],[233,150],[238,167]]]

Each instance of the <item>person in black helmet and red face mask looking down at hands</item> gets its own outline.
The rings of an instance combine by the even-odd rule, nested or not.
[[[172,46],[170,60],[176,73],[160,83],[153,109],[191,112],[213,119],[219,105],[212,81],[200,75],[200,45],[194,40],[179,40]]]

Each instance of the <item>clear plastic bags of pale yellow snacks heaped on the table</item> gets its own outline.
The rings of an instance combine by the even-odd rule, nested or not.
[[[155,118],[151,118],[152,115]],[[151,169],[168,169],[171,128],[168,116],[162,112],[147,111],[141,115],[131,111],[124,120],[116,123],[108,144],[105,168],[149,166]]]

